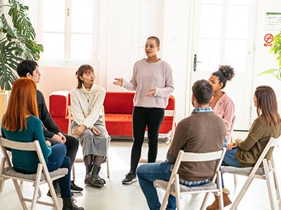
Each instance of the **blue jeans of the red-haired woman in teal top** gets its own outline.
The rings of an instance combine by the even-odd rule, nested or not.
[[[52,146],[52,153],[48,157],[46,163],[49,172],[53,172],[58,168],[67,168],[67,175],[58,179],[58,185],[60,186],[61,197],[71,197],[70,191],[70,172],[71,172],[71,160],[66,156],[67,148],[65,144],[55,144]]]

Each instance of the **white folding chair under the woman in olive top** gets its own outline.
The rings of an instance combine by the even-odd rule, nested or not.
[[[242,200],[242,197],[249,188],[251,181],[253,181],[254,178],[266,180],[271,209],[281,209],[279,183],[277,180],[273,155],[270,160],[266,160],[265,158],[270,148],[274,149],[275,146],[280,145],[281,137],[277,139],[271,138],[268,141],[266,148],[264,148],[263,152],[261,153],[261,156],[259,157],[259,160],[256,162],[254,167],[221,167],[221,172],[223,174],[229,173],[241,176],[248,176],[247,181],[244,183],[244,186],[240,190],[239,195],[237,195],[235,202],[233,202],[233,205],[230,209],[237,208],[238,204]],[[277,203],[275,201],[277,201]]]

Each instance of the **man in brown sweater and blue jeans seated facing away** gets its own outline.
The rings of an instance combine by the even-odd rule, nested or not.
[[[137,169],[138,180],[150,209],[157,210],[161,204],[153,186],[156,179],[169,181],[178,152],[209,153],[221,150],[226,137],[226,125],[209,107],[213,87],[207,80],[198,80],[192,86],[191,116],[181,120],[176,127],[174,139],[167,153],[167,161],[148,163]],[[180,183],[185,186],[200,186],[214,176],[216,161],[182,162],[178,169]],[[169,196],[166,209],[176,209],[176,199]]]

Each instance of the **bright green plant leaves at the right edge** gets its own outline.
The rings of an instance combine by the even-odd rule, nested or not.
[[[271,46],[269,52],[274,52],[274,55],[277,56],[276,59],[279,64],[279,68],[268,69],[266,71],[259,73],[259,75],[271,73],[271,74],[273,74],[273,76],[275,76],[277,78],[277,80],[281,81],[281,31],[280,31],[280,34],[277,34],[274,37],[273,45]]]

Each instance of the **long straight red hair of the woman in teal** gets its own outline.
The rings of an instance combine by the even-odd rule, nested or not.
[[[36,84],[30,78],[19,78],[13,83],[3,127],[15,132],[27,128],[27,115],[38,118]]]

